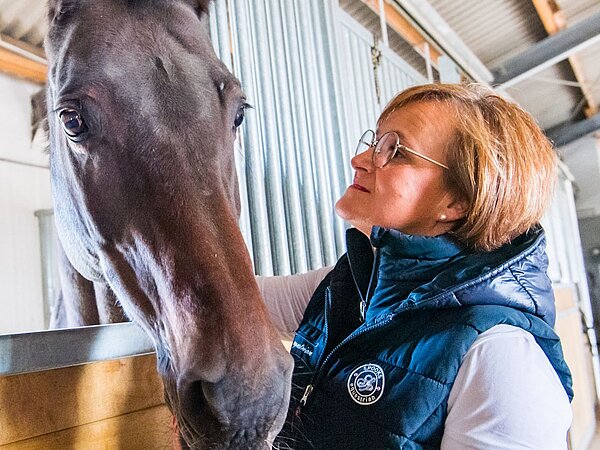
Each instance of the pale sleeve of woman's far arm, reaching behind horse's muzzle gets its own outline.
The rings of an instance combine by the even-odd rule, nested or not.
[[[306,306],[315,290],[333,267],[298,275],[256,277],[275,327],[290,339],[300,326]]]

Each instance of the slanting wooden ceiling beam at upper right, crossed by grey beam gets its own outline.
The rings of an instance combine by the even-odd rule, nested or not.
[[[533,5],[546,29],[549,36],[564,30],[567,27],[564,12],[560,10],[559,6],[554,0],[532,0]],[[581,61],[577,55],[569,57],[569,63],[571,69],[575,74],[575,79],[579,83],[579,88],[585,98],[587,106],[584,108],[584,114],[586,117],[591,117],[598,112],[598,104],[594,100],[592,89],[589,85],[589,80],[585,77],[585,72],[581,66]]]

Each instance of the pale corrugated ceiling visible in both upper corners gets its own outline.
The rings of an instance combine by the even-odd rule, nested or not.
[[[332,0],[333,1],[333,0]],[[338,0],[340,6],[350,12],[368,28],[379,26],[379,18],[367,4],[374,0]],[[464,44],[461,53],[470,54],[489,72],[495,69],[514,68],[523,65],[523,52],[537,49],[548,39],[561,38],[570,30],[597,15],[591,27],[600,35],[600,1],[598,0],[385,0],[401,15],[411,20],[417,29],[428,36],[428,41],[440,53],[453,55],[447,43],[439,39],[439,29],[454,35]],[[417,5],[417,6],[415,6]],[[413,9],[425,5],[428,17],[439,15],[436,28],[431,33],[423,21],[415,20]],[[413,9],[411,9],[413,8]],[[46,30],[45,0],[0,0],[0,43],[18,40],[25,46],[41,48]],[[550,13],[548,14],[548,11]],[[440,22],[440,20],[442,22]],[[443,23],[443,26],[439,24]],[[430,27],[431,28],[431,27]],[[589,28],[589,27],[588,27]],[[429,34],[428,34],[429,33]],[[448,35],[446,33],[446,36]],[[577,34],[577,33],[575,33]],[[443,35],[443,33],[442,33]],[[552,38],[549,38],[553,35]],[[444,37],[444,36],[442,36]],[[564,39],[563,39],[564,41]],[[12,41],[14,42],[14,41]],[[588,41],[588,44],[592,41]],[[558,45],[558,44],[557,44]],[[425,70],[423,52],[390,33],[390,46],[420,71]],[[548,46],[553,50],[553,46]],[[556,47],[556,46],[555,46]],[[463,47],[461,47],[463,48]],[[541,47],[540,51],[541,51]],[[535,56],[536,52],[533,52]],[[460,55],[459,55],[460,56]],[[525,58],[527,60],[527,58]],[[520,103],[531,112],[542,128],[550,133],[561,133],[565,126],[584,123],[588,117],[596,119],[598,128],[598,105],[600,104],[600,39],[547,67],[538,65],[523,79],[507,87],[494,80],[484,80]],[[464,67],[463,67],[464,69]],[[468,73],[468,70],[465,70]],[[471,77],[474,78],[474,77]],[[481,80],[479,80],[481,81]],[[512,83],[514,79],[509,82]],[[596,116],[594,116],[596,114]],[[589,119],[588,119],[589,123]]]

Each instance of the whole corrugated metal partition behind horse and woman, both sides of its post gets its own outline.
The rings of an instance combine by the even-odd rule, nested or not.
[[[334,204],[351,182],[356,139],[395,93],[425,79],[384,48],[378,102],[373,35],[335,2],[229,0],[212,8],[217,53],[255,106],[240,133],[238,168],[247,205],[241,227],[256,272],[334,264],[345,230]]]

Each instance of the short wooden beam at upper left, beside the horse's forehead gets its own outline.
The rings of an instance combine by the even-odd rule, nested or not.
[[[32,57],[25,56],[27,53]],[[48,66],[40,60],[43,56],[37,47],[0,35],[0,72],[44,84]]]

